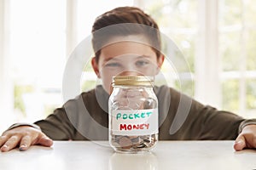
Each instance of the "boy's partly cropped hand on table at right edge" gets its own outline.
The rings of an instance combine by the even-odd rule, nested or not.
[[[236,151],[256,148],[256,125],[243,127],[241,133],[236,138],[234,149]]]

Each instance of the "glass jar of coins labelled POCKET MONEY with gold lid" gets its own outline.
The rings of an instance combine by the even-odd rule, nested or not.
[[[117,152],[151,150],[158,141],[158,100],[154,77],[113,77],[108,100],[109,144]]]

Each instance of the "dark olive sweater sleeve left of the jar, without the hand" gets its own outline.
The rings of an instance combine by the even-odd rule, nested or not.
[[[100,93],[103,93],[102,90]],[[102,98],[102,94],[99,94]],[[104,103],[108,100],[104,99]],[[95,90],[70,99],[46,119],[35,122],[55,140],[108,139],[108,113],[102,110]]]

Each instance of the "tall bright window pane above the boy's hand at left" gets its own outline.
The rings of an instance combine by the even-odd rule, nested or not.
[[[61,105],[66,3],[11,0],[9,8],[15,117],[33,122]]]

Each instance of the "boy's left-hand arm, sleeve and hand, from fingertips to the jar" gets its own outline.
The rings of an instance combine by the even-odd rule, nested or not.
[[[102,99],[103,95],[100,96]],[[103,102],[108,104],[107,101],[106,97]],[[94,90],[68,100],[44,120],[34,124],[17,123],[9,127],[0,136],[0,147],[2,151],[8,151],[20,144],[20,150],[27,150],[32,144],[50,146],[52,139],[108,139],[108,113],[97,104]]]

